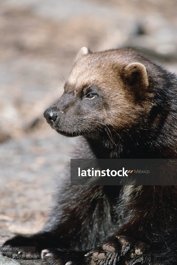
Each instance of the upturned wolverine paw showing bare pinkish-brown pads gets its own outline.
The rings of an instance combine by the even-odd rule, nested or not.
[[[106,241],[85,255],[91,265],[133,265],[143,262],[143,243],[132,242],[124,236]]]

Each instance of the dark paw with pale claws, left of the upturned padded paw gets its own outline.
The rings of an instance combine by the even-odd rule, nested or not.
[[[68,251],[60,248],[44,249],[41,258],[50,265],[83,265],[86,251]]]

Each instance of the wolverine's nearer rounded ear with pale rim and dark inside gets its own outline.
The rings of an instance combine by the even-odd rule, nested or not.
[[[149,85],[148,74],[142,63],[130,63],[123,69],[123,79],[130,86],[140,89],[147,88]]]

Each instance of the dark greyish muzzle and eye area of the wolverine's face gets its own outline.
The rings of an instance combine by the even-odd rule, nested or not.
[[[90,133],[99,135],[99,130],[105,125],[108,108],[96,83],[76,89],[76,84],[71,85],[67,81],[63,95],[45,111],[44,116],[60,134],[71,137]]]

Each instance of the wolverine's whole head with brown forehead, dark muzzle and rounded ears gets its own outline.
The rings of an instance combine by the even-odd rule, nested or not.
[[[122,50],[79,54],[63,95],[44,112],[47,122],[62,135],[100,137],[130,130],[142,112],[145,120],[152,107],[148,75],[134,60]]]

